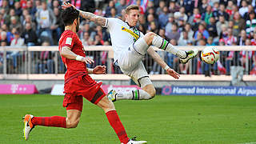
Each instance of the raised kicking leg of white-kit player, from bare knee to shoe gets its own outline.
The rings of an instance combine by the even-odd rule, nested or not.
[[[197,49],[190,51],[178,50],[173,45],[171,45],[170,42],[166,41],[166,39],[160,37],[157,34],[154,34],[153,32],[147,33],[144,36],[144,39],[149,46],[156,46],[159,49],[166,50],[167,52],[178,56],[182,63],[188,62],[191,58],[194,58],[198,54]]]

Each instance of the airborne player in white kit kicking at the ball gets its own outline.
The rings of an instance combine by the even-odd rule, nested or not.
[[[64,6],[73,5],[65,3]],[[188,62],[198,54],[197,49],[190,51],[178,50],[153,32],[142,34],[134,27],[137,25],[139,17],[138,6],[130,5],[126,7],[125,22],[118,18],[104,18],[82,10],[79,10],[79,12],[82,18],[86,18],[109,30],[114,49],[114,64],[119,66],[123,74],[130,76],[142,88],[142,90],[130,90],[124,93],[116,93],[115,90],[111,90],[108,98],[113,102],[121,99],[142,100],[154,98],[156,90],[142,63],[142,58],[145,57],[146,53],[150,54],[154,61],[158,62],[166,70],[167,74],[174,78],[179,78],[179,74],[162,60],[154,49],[150,47],[151,45],[178,56],[182,63]]]

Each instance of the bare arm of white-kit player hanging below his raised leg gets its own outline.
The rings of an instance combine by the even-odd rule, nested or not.
[[[147,50],[147,53],[150,54],[150,56],[154,59],[155,62],[158,62],[158,65],[160,65],[163,69],[166,70],[167,74],[169,74],[170,76],[178,79],[180,76],[179,74],[174,71],[173,69],[171,69],[166,62],[164,62],[162,60],[162,58],[160,57],[160,55],[154,51],[153,47],[150,46],[150,48]]]

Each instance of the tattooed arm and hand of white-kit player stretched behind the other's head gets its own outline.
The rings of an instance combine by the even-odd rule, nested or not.
[[[73,6],[71,5],[70,3],[64,3],[64,5],[62,6],[62,9],[65,9],[66,7],[70,7],[70,6]],[[101,16],[98,16],[98,15],[95,15],[95,14],[92,14],[90,12],[86,12],[86,11],[82,11],[82,10],[79,10],[77,9],[75,6],[73,6],[74,9],[78,10],[79,11],[79,15],[82,17],[82,18],[86,18],[88,19],[90,22],[95,22],[97,25],[99,26],[102,26],[102,27],[106,27],[107,25],[107,19],[104,18],[104,17],[101,17]]]

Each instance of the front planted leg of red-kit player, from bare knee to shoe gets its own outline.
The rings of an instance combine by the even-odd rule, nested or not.
[[[121,144],[142,144],[146,143],[146,141],[135,141],[134,139],[129,139],[124,126],[122,126],[122,122],[118,117],[118,113],[114,108],[113,102],[110,102],[108,98],[105,96],[102,98],[97,106],[101,107],[102,110],[106,113],[106,118],[110,122],[110,126],[114,129],[115,133],[118,135],[118,138]]]

